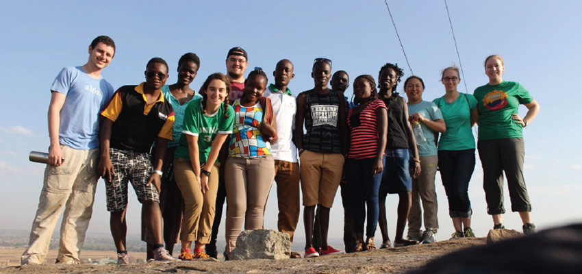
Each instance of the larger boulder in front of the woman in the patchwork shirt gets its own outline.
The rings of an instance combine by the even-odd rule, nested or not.
[[[291,255],[289,234],[270,229],[245,230],[236,239],[230,260],[288,259]]]

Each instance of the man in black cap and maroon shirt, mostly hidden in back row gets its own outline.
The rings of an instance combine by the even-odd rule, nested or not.
[[[229,103],[234,103],[236,99],[242,97],[242,91],[244,90],[244,71],[246,71],[246,66],[249,65],[249,57],[246,55],[246,51],[242,47],[233,47],[227,53],[227,77],[230,80],[230,93],[228,101]],[[225,142],[223,149],[220,150],[220,162],[224,162],[227,156],[228,143]],[[210,244],[206,245],[206,253],[212,257],[216,258],[218,256],[218,251],[216,250],[216,238],[218,238],[218,227],[220,227],[220,220],[223,216],[223,208],[227,198],[227,191],[225,188],[225,176],[224,168],[220,168],[220,175],[218,176],[218,192],[216,193],[216,211],[214,213],[214,223],[212,224],[212,236],[210,237]]]

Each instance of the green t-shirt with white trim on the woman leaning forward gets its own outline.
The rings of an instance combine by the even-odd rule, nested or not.
[[[234,124],[233,108],[230,105],[228,106],[228,118],[225,117],[224,103],[220,105],[220,108],[214,114],[203,114],[201,101],[202,99],[192,100],[186,107],[182,135],[174,154],[176,158],[190,160],[186,135],[198,136],[200,162],[205,163],[216,134],[232,133],[232,125]]]

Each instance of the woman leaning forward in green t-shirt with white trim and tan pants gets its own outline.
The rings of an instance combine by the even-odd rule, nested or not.
[[[232,133],[234,110],[228,103],[229,79],[210,75],[200,88],[203,97],[188,103],[175,152],[174,177],[184,198],[180,260],[208,258],[214,203],[218,190],[218,152]],[[196,241],[194,253],[190,252]]]

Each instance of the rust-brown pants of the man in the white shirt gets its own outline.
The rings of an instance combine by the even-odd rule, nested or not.
[[[299,222],[299,163],[275,160],[275,183],[279,205],[277,229],[289,234],[293,242]]]

